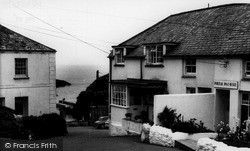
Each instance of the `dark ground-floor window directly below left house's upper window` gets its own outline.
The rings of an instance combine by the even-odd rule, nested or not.
[[[28,97],[15,98],[15,110],[18,115],[28,115]]]

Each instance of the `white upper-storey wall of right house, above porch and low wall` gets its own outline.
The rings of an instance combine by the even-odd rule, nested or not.
[[[140,60],[125,60],[124,67],[112,66],[112,80],[140,78]],[[164,67],[146,67],[146,60],[142,64],[143,79],[158,79],[168,82],[170,94],[184,94],[186,87],[213,88],[214,60],[197,60],[196,78],[183,78],[183,60],[181,58],[165,59]],[[205,70],[204,70],[205,69]]]

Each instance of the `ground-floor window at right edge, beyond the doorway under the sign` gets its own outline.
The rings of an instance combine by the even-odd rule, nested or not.
[[[242,93],[241,97],[241,121],[244,122],[250,116],[250,93]]]

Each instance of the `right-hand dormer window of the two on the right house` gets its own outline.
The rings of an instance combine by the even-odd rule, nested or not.
[[[147,63],[162,64],[163,63],[163,45],[146,46]]]

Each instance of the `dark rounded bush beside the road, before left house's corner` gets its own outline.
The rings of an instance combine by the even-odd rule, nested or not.
[[[56,113],[43,114],[41,116],[26,116],[21,119],[22,138],[42,139],[54,136],[62,136],[67,133],[66,121]]]

